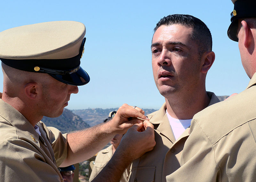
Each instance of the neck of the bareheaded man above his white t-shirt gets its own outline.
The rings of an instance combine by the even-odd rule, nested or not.
[[[205,90],[194,95],[182,94],[165,98],[167,112],[180,120],[192,119],[196,113],[209,105],[210,100]]]

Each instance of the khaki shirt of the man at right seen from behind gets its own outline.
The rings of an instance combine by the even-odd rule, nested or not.
[[[197,113],[167,181],[256,181],[256,74],[243,92]]]

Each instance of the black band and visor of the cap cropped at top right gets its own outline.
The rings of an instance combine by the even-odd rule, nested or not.
[[[256,0],[231,0],[234,10],[231,12],[231,24],[228,27],[228,37],[238,42],[237,28],[238,19],[256,17]]]

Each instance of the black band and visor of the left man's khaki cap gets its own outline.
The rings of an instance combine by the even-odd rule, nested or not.
[[[0,60],[15,69],[23,71],[48,73],[50,76],[70,85],[85,85],[90,81],[90,76],[80,67],[80,59],[84,53],[84,43],[82,41],[79,54],[67,59],[4,59]]]

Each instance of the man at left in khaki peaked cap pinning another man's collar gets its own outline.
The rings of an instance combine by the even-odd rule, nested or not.
[[[4,74],[0,99],[0,181],[63,181],[57,166],[92,157],[114,135],[124,134],[130,127],[125,144],[120,144],[120,151],[115,153],[115,158],[125,155],[125,159],[110,160],[95,181],[121,178],[131,160],[153,149],[153,126],[146,120],[147,129],[138,132],[143,124],[137,117],[146,116],[140,108],[126,104],[105,124],[63,135],[40,121],[43,116],[60,116],[70,95],[78,92],[77,86],[90,81],[80,67],[84,35],[84,24],[75,21],[25,25],[0,33]],[[136,136],[136,140],[131,136]],[[144,149],[138,147],[141,144],[145,144]],[[113,163],[118,169],[112,169]],[[114,170],[115,175],[109,176],[108,170]]]

